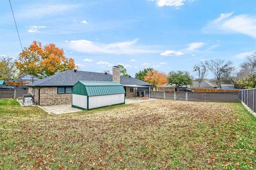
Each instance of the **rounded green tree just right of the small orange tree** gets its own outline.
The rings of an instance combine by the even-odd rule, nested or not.
[[[177,90],[181,86],[192,85],[192,78],[187,71],[171,71],[167,77],[167,81],[169,84],[174,84]]]

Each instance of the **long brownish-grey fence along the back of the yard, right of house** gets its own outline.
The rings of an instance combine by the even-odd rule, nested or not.
[[[151,98],[188,100],[188,101],[224,101],[241,102],[241,91],[230,92],[166,92],[150,91]]]

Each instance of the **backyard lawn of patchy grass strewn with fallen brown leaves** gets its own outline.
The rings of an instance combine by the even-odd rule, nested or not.
[[[239,103],[154,100],[74,114],[0,100],[0,169],[255,169]]]

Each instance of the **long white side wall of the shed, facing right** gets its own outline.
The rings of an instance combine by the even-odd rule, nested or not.
[[[124,94],[89,96],[89,109],[124,103]]]

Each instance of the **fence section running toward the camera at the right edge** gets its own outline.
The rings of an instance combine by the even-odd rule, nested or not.
[[[256,109],[256,89],[245,89],[242,90],[242,101],[247,105],[253,112]]]

